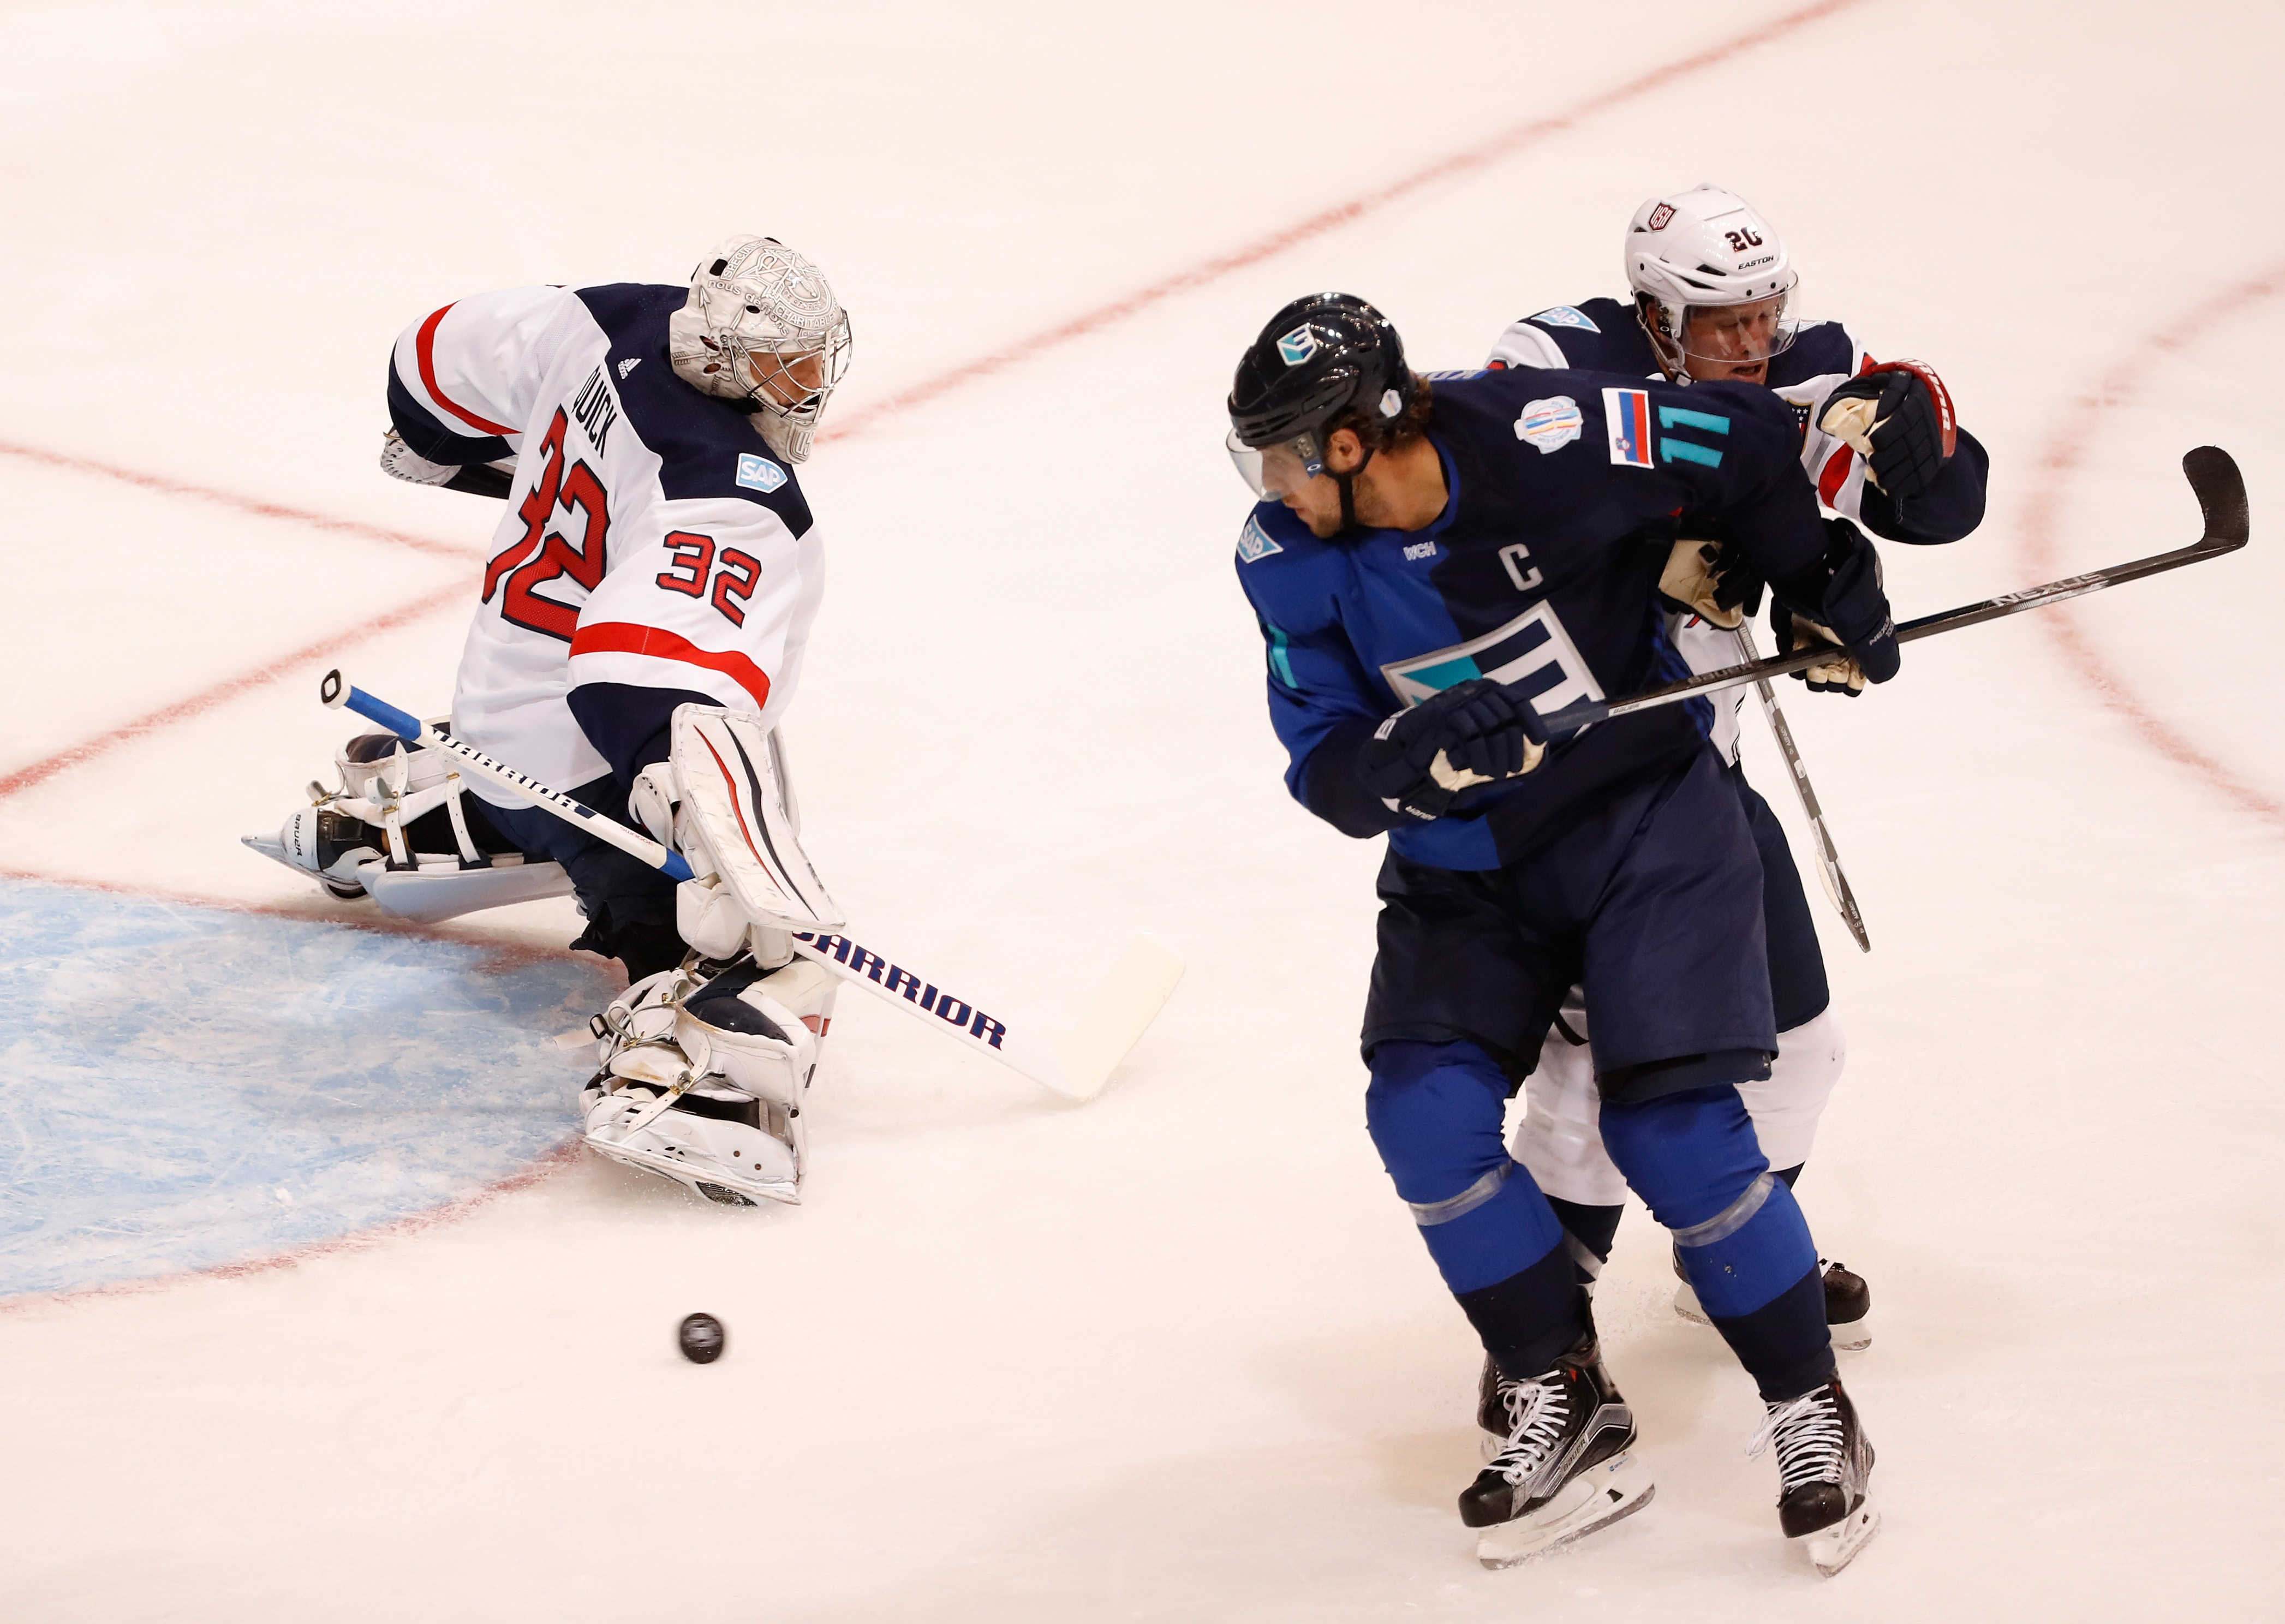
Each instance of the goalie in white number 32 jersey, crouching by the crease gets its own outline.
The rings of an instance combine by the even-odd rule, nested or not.
[[[825,589],[795,464],[848,354],[825,276],[752,235],[688,286],[487,292],[395,343],[382,466],[507,498],[450,733],[647,827],[697,879],[393,735],[352,740],[340,790],[251,841],[409,918],[571,891],[574,946],[628,975],[596,1023],[587,1142],[727,1204],[797,1197],[832,1010],[832,980],[786,939],[832,920],[793,845],[777,719]],[[804,884],[731,884],[745,847]]]

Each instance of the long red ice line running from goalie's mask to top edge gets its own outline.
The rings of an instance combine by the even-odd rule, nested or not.
[[[1334,203],[1332,208],[1318,210],[1316,215],[1309,215],[1298,224],[1273,231],[1266,238],[1257,238],[1241,249],[1232,249],[1229,254],[1174,272],[1163,281],[1154,281],[1149,288],[1142,288],[1140,292],[1131,292],[1124,299],[1113,299],[1111,304],[1097,306],[1085,315],[1074,315],[1069,322],[1063,322],[1060,327],[1049,327],[1044,331],[1033,333],[1031,338],[1019,338],[999,354],[980,356],[976,361],[969,361],[967,365],[953,368],[951,372],[941,372],[928,379],[925,384],[914,384],[912,388],[889,395],[887,400],[873,402],[864,411],[857,411],[850,418],[845,418],[839,427],[827,429],[823,439],[834,441],[850,434],[864,434],[880,418],[907,411],[912,407],[921,407],[935,400],[937,395],[951,393],[953,388],[969,384],[971,379],[989,377],[992,372],[1003,372],[1010,365],[1017,365],[1019,361],[1028,361],[1047,349],[1053,349],[1056,345],[1065,345],[1074,338],[1085,338],[1088,333],[1097,333],[1104,327],[1124,322],[1129,315],[1140,315],[1149,306],[1163,304],[1174,295],[1190,292],[1193,288],[1204,288],[1206,283],[1220,281],[1222,276],[1236,270],[1245,270],[1248,265],[1259,265],[1261,260],[1284,254],[1286,249],[1300,242],[1309,242],[1312,238],[1321,238],[1328,231],[1337,231],[1339,226],[1364,219],[1366,215],[1376,215],[1389,203],[1403,201],[1414,192],[1435,185],[1437,180],[1451,180],[1453,176],[1472,174],[1476,169],[1488,169],[1501,162],[1504,158],[1520,153],[1533,142],[1570,130],[1572,126],[1595,116],[1597,112],[1609,112],[1611,107],[1620,107],[1629,101],[1647,96],[1650,91],[1666,89],[1675,80],[1684,80],[1691,73],[1698,73],[1700,69],[1721,66],[1723,62],[1730,62],[1732,57],[1753,50],[1755,46],[1766,46],[1775,39],[1782,39],[1785,34],[1807,27],[1810,23],[1821,23],[1833,14],[1846,11],[1862,2],[1865,0],[1819,0],[1817,5],[1807,5],[1801,7],[1798,11],[1787,11],[1785,16],[1771,18],[1769,23],[1759,23],[1757,27],[1748,27],[1743,34],[1732,34],[1730,39],[1716,46],[1707,46],[1705,50],[1693,50],[1686,57],[1677,57],[1675,62],[1650,69],[1647,73],[1641,73],[1627,80],[1625,85],[1597,91],[1586,101],[1572,103],[1563,112],[1552,112],[1542,119],[1517,123],[1485,142],[1478,142],[1476,146],[1451,153],[1449,158],[1440,158],[1433,164],[1426,164],[1424,169],[1414,169],[1412,174],[1392,180],[1389,185],[1376,192],[1366,192],[1346,203]]]

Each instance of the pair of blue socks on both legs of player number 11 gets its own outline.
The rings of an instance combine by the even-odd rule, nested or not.
[[[1547,1370],[1588,1332],[1563,1224],[1508,1156],[1508,1078],[1469,1042],[1373,1051],[1366,1126],[1396,1195],[1485,1352],[1513,1377]],[[1698,1300],[1762,1398],[1833,1375],[1817,1243],[1769,1172],[1734,1085],[1604,1101],[1602,1137],[1675,1233]]]

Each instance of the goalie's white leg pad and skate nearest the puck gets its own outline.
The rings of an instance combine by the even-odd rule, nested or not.
[[[722,1206],[800,1204],[802,1099],[836,989],[809,959],[635,982],[596,1016],[603,1064],[580,1092],[587,1147]]]

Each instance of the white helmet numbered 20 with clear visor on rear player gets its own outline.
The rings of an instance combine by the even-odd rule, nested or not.
[[[1627,222],[1627,286],[1673,377],[1693,359],[1750,365],[1791,345],[1796,281],[1778,231],[1718,185],[1654,196]]]

